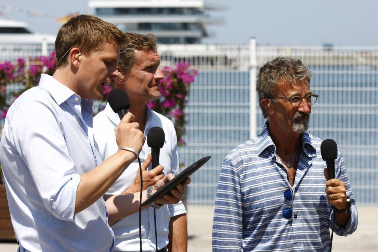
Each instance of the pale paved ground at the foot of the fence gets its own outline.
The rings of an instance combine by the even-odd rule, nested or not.
[[[357,231],[347,237],[334,235],[334,252],[378,251],[378,207],[358,207]],[[188,206],[189,252],[211,251],[213,208]],[[0,243],[0,251],[14,252],[16,243]]]

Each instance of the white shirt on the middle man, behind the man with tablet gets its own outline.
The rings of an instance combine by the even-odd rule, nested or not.
[[[145,135],[147,135],[151,127],[154,126],[159,126],[164,130],[165,141],[163,148],[160,149],[159,163],[164,167],[164,174],[173,173],[176,176],[179,174],[179,166],[177,158],[177,137],[173,123],[163,115],[150,110],[147,106],[146,112],[147,122]],[[113,112],[109,104],[93,119],[95,145],[102,158],[107,158],[118,150],[114,128],[119,122],[118,114]],[[146,141],[139,154],[141,162],[147,158],[149,153],[151,153],[151,150]],[[151,165],[149,167],[149,170],[150,169]],[[133,183],[137,172],[139,172],[139,164],[136,159],[110,187],[107,193],[121,194]],[[174,205],[163,205],[161,208],[156,209],[158,249],[162,249],[168,245],[170,218],[184,213],[186,213],[186,209],[181,201]],[[114,251],[139,251],[138,214],[139,213],[130,215],[112,225],[111,228],[115,234]],[[142,210],[142,250],[155,251],[154,209],[152,207]]]

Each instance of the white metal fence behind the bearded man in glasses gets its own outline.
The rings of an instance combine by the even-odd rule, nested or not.
[[[186,165],[212,158],[192,175],[188,203],[214,203],[223,158],[264,124],[255,92],[259,67],[291,56],[312,71],[311,89],[319,94],[309,132],[337,142],[357,203],[378,205],[378,47],[259,46],[251,39],[249,45],[160,45],[159,53],[162,66],[186,61],[199,71],[179,158]]]

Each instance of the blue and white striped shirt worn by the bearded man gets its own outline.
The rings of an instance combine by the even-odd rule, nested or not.
[[[321,142],[308,133],[302,135],[292,220],[282,215],[287,206],[283,194],[290,183],[267,124],[259,136],[226,156],[215,200],[213,251],[328,251],[333,214],[325,193],[327,166],[320,154]],[[345,183],[353,205],[347,226],[335,223],[334,231],[348,235],[357,229],[358,213],[340,151],[335,163],[336,178]]]

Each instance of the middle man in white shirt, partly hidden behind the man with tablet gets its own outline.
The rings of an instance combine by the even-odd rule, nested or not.
[[[157,53],[156,38],[152,35],[125,33],[124,45],[121,46],[118,63],[120,75],[115,79],[114,87],[123,89],[129,96],[129,112],[135,115],[139,129],[147,135],[151,127],[158,126],[164,130],[165,142],[160,150],[160,164],[164,174],[178,174],[177,137],[173,123],[161,114],[152,111],[146,102],[160,97],[159,82],[164,75],[159,69],[160,56]],[[94,117],[94,137],[96,147],[102,158],[117,151],[114,138],[114,127],[119,123],[119,117],[112,111],[109,104],[104,111]],[[151,153],[145,143],[140,152],[140,159],[146,159]],[[133,162],[129,168],[110,187],[108,193],[139,191],[138,163]],[[154,183],[156,172],[144,170],[144,188]],[[166,247],[172,251],[187,250],[186,209],[182,202],[173,205],[163,205],[156,209],[156,228],[158,249]],[[115,251],[139,250],[138,216],[131,215],[113,224],[115,233]],[[142,211],[142,250],[155,251],[154,211],[148,208]]]

